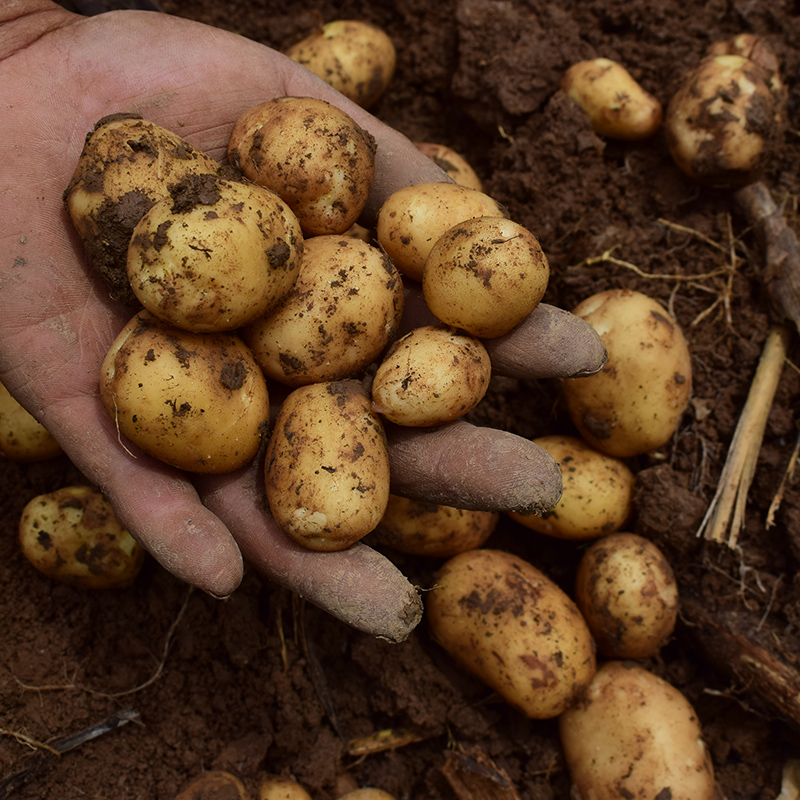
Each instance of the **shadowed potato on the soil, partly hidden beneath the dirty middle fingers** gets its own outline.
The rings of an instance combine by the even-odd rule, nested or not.
[[[494,532],[499,516],[494,511],[467,511],[390,494],[370,538],[400,553],[450,558],[480,547]]]

